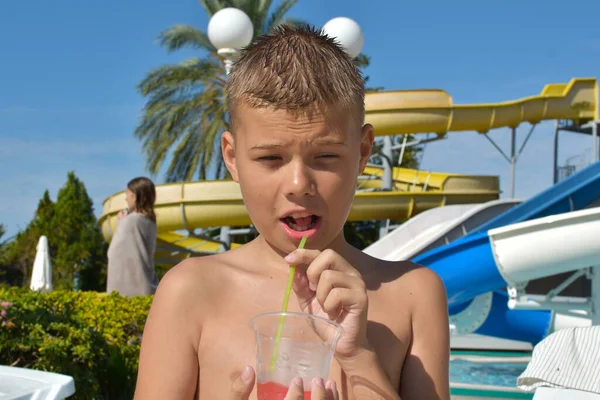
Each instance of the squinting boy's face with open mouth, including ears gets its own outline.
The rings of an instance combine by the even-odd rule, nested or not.
[[[238,105],[236,134],[225,132],[221,146],[256,229],[291,252],[305,235],[318,249],[340,238],[373,135],[348,112],[296,117]]]

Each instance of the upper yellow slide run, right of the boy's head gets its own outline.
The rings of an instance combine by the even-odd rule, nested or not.
[[[576,124],[598,120],[595,78],[544,87],[537,96],[490,104],[452,104],[443,90],[397,90],[365,97],[367,121],[376,135],[477,131],[517,127],[522,122],[566,119]]]

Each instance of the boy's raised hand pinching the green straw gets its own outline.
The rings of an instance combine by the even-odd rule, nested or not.
[[[285,261],[298,268],[294,292],[304,312],[326,317],[342,325],[336,355],[350,358],[368,347],[367,309],[369,301],[361,274],[333,250],[298,249]]]

